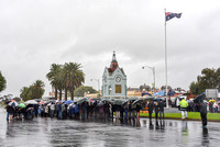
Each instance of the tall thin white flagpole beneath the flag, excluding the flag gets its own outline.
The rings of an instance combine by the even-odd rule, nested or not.
[[[165,77],[166,77],[166,108],[168,108],[168,97],[167,97],[167,44],[166,44],[166,9],[164,9],[165,11]]]

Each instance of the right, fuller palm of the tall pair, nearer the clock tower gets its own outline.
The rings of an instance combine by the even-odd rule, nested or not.
[[[69,90],[72,100],[74,100],[74,90],[85,82],[85,74],[80,69],[81,65],[77,63],[65,63],[65,100],[67,100],[67,91]]]

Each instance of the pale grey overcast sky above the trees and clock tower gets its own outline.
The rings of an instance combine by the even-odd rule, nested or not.
[[[0,0],[0,70],[7,89],[41,79],[45,94],[52,64],[80,63],[85,86],[97,89],[116,50],[128,87],[165,84],[165,14],[183,12],[167,22],[168,84],[188,90],[204,68],[220,67],[219,0]]]

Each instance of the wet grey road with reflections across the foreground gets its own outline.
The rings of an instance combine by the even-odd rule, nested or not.
[[[119,122],[81,122],[56,118],[34,118],[7,123],[6,112],[0,108],[0,146],[2,147],[218,147],[220,144],[220,123],[209,123],[208,131],[200,122],[153,121],[147,118],[140,125]]]

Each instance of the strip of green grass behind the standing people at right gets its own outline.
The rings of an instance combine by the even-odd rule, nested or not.
[[[199,112],[187,112],[188,120],[201,120]],[[148,113],[141,113],[140,116],[148,117]],[[155,113],[152,114],[152,117],[155,117]],[[166,118],[182,118],[182,113],[165,113]],[[220,121],[220,113],[208,113],[207,120]]]

